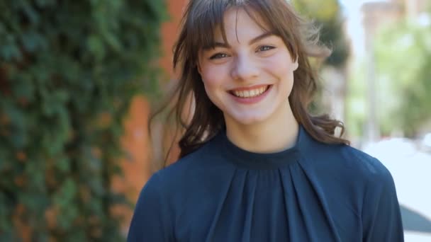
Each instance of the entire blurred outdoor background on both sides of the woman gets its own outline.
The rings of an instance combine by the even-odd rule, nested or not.
[[[332,49],[313,112],[391,171],[405,241],[431,241],[431,1],[290,1]],[[0,241],[125,241],[174,139],[147,119],[186,2],[0,1]]]

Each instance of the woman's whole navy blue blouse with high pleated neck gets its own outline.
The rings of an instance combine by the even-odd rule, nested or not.
[[[272,154],[220,132],[158,171],[140,193],[128,241],[403,241],[391,173],[347,145]]]

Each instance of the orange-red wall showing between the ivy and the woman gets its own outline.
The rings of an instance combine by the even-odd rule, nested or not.
[[[169,79],[175,79],[172,70],[172,46],[177,38],[181,13],[185,4],[186,0],[167,0],[170,19],[169,22],[162,25],[163,57],[159,63],[168,74]],[[146,183],[152,173],[150,140],[147,134],[149,113],[150,105],[145,97],[136,97],[130,107],[130,116],[128,120],[125,120],[125,136],[123,137],[123,145],[129,152],[131,160],[121,161],[124,177],[116,178],[113,183],[115,190],[125,192],[128,199],[134,202],[138,199],[142,185]],[[124,231],[127,232],[133,211],[119,207],[115,208],[114,212],[125,216]]]

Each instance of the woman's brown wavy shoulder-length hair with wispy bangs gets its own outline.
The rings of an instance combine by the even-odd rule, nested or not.
[[[198,149],[225,127],[222,111],[206,95],[197,63],[202,48],[212,46],[216,28],[220,28],[227,42],[223,15],[229,8],[244,9],[262,28],[269,28],[267,30],[282,38],[291,56],[298,58],[298,69],[293,73],[293,90],[289,96],[296,121],[319,142],[349,144],[341,138],[345,131],[342,122],[331,119],[329,115],[313,116],[308,113],[318,78],[309,57],[328,57],[330,54],[328,48],[319,45],[318,28],[298,16],[286,0],[189,0],[181,21],[181,32],[174,45],[173,64],[174,69],[179,71],[179,81],[174,93],[169,94],[167,103],[150,117],[151,122],[155,115],[172,103],[173,98],[169,117],[174,115],[183,130],[179,139],[179,157]],[[189,98],[193,100],[194,111],[191,112],[191,119],[184,120]],[[337,127],[341,129],[340,137],[335,137]]]

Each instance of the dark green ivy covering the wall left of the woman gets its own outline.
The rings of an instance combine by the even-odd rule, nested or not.
[[[123,241],[122,120],[157,93],[164,1],[0,1],[0,241]],[[21,228],[21,229],[20,229]]]

